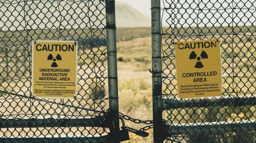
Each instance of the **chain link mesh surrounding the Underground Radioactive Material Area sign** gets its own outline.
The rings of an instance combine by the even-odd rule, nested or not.
[[[109,132],[102,125],[108,106],[105,33],[102,0],[0,0],[2,139],[97,137]],[[37,99],[31,95],[34,40],[78,42],[77,98]],[[91,125],[86,127],[84,120]],[[96,120],[100,121],[97,125]]]

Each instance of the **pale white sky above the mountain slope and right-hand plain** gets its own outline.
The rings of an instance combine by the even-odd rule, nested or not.
[[[171,1],[171,0],[170,0]],[[116,0],[116,2],[125,2],[131,5],[133,8],[137,9],[140,13],[151,18],[151,0]],[[190,2],[190,1],[188,1]],[[235,25],[255,25],[256,23],[256,2],[253,0],[218,0],[211,3],[211,0],[205,0],[206,4],[196,1],[191,1],[188,4],[187,1],[174,1],[172,5],[175,4],[176,9],[168,9],[163,13],[163,25],[176,25],[176,26],[227,26],[232,23],[232,5],[234,4],[234,24]],[[169,6],[165,2],[165,6]],[[203,11],[198,11],[198,5]],[[161,0],[161,7],[163,7],[163,2]],[[193,9],[180,9],[180,7],[193,7]],[[250,7],[250,9],[248,9]],[[214,9],[218,9],[218,11]],[[226,9],[225,9],[226,8]],[[242,8],[242,9],[239,9]],[[211,12],[208,11],[211,9]],[[225,9],[225,10],[224,10]],[[170,13],[172,13],[170,18]],[[161,13],[162,14],[162,13]],[[197,23],[198,22],[198,23]]]

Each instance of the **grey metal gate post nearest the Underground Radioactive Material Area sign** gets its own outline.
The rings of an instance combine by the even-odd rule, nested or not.
[[[106,29],[107,29],[107,71],[109,83],[109,115],[117,117],[118,109],[118,83],[117,83],[117,58],[116,58],[116,19],[115,1],[106,0]],[[118,131],[119,120],[114,120],[114,127],[111,132]],[[118,143],[114,138],[112,143]]]

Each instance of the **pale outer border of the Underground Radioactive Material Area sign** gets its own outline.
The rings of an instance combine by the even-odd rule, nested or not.
[[[33,90],[34,90],[34,42],[75,42],[76,43],[76,90],[75,90],[75,96],[74,97],[37,97],[36,95],[34,95],[33,94]],[[33,43],[32,43],[32,66],[31,66],[31,68],[32,68],[32,77],[31,77],[31,94],[33,95],[33,97],[35,97],[35,98],[58,98],[58,99],[72,99],[72,98],[76,98],[77,97],[77,94],[78,94],[78,91],[77,91],[77,66],[78,66],[78,58],[77,58],[77,56],[78,56],[78,43],[77,43],[77,41],[58,41],[58,40],[33,40],[32,41]]]

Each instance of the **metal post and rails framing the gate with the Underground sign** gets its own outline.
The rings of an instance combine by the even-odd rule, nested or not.
[[[106,26],[104,27],[107,31],[107,70],[108,70],[108,88],[109,88],[109,112],[105,119],[92,116],[91,118],[62,118],[51,117],[51,118],[0,118],[0,129],[1,128],[38,128],[38,127],[106,127],[110,129],[109,134],[106,135],[89,135],[83,137],[69,137],[69,136],[37,136],[36,138],[26,138],[24,136],[18,136],[18,138],[5,137],[1,138],[1,141],[6,143],[9,142],[22,142],[26,141],[29,143],[33,142],[60,142],[60,141],[82,141],[85,143],[101,142],[101,143],[119,143],[113,136],[113,133],[118,132],[119,120],[116,120],[119,116],[118,106],[118,82],[117,82],[117,56],[116,56],[116,21],[115,21],[115,1],[104,0],[105,2],[105,20]],[[50,29],[51,30],[51,29]],[[27,45],[28,46],[28,45]],[[2,91],[10,95],[16,95],[19,97],[25,97],[28,99],[38,100],[41,102],[50,102],[45,99],[38,99],[35,97],[27,97],[16,93],[10,93],[8,91]],[[59,105],[66,105],[59,103]],[[86,109],[88,111],[95,111],[84,107],[77,107],[74,105],[67,105],[69,107],[75,107],[78,109]],[[98,111],[103,112],[103,111]]]

